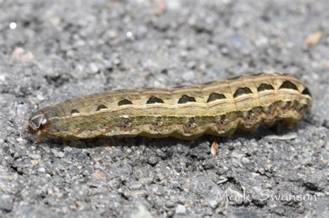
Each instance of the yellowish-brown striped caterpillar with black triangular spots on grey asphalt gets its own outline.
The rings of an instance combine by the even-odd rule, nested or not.
[[[28,132],[65,140],[100,136],[231,136],[310,111],[309,89],[292,75],[258,73],[199,86],[106,91],[44,107],[28,120]]]

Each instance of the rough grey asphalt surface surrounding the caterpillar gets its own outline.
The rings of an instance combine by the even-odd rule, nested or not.
[[[329,216],[329,1],[0,1],[0,217]],[[40,107],[280,71],[312,113],[192,143],[33,144]]]

